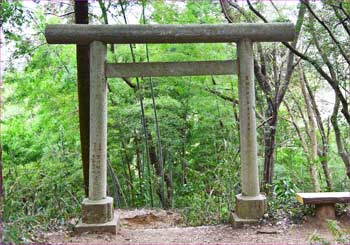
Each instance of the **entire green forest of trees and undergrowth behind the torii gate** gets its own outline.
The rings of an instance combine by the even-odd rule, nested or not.
[[[46,24],[74,1],[2,1],[4,239],[69,227],[85,195],[75,45]],[[273,217],[303,215],[297,191],[346,191],[350,178],[348,1],[111,1],[91,24],[288,22],[292,43],[255,45],[261,188]],[[236,45],[109,45],[113,62],[226,60]],[[108,80],[108,193],[119,208],[178,209],[190,225],[227,222],[240,192],[236,76]]]

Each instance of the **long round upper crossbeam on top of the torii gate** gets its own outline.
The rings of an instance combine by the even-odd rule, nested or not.
[[[291,41],[290,23],[194,24],[194,25],[48,25],[51,44],[104,43],[223,43],[249,39],[252,42]]]

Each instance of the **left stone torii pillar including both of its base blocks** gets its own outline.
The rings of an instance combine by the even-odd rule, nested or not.
[[[90,159],[89,198],[83,201],[82,223],[78,232],[97,231],[116,234],[113,198],[107,197],[107,46],[90,44]]]

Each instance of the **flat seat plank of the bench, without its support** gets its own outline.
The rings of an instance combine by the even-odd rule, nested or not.
[[[350,192],[296,193],[301,204],[350,203]]]

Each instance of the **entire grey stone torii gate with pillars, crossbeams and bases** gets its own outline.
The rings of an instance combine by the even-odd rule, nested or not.
[[[111,77],[238,74],[242,193],[236,196],[233,223],[255,223],[266,211],[257,163],[253,42],[292,41],[290,23],[210,25],[47,25],[49,44],[90,45],[89,196],[82,203],[78,231],[116,233],[113,198],[107,196],[107,83]],[[107,43],[236,42],[236,61],[107,63]]]

